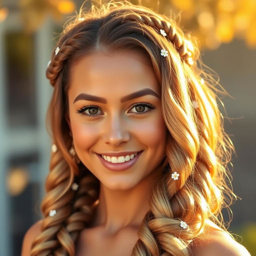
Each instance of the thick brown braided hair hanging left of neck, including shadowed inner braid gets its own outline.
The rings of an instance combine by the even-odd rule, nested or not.
[[[77,177],[79,189],[76,192],[69,189],[57,200],[70,177],[70,166],[60,150],[52,155],[50,170],[46,178],[47,194],[41,205],[44,214],[41,233],[33,241],[30,256],[75,255],[79,233],[93,219],[98,199],[98,179],[81,166],[80,176]],[[50,217],[48,214],[52,209],[57,209],[57,214]]]

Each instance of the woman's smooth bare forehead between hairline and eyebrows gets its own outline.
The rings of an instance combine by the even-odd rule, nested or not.
[[[142,54],[115,52],[111,56],[90,54],[72,68],[69,95],[81,92],[105,96],[126,95],[144,88],[161,95],[154,69]]]

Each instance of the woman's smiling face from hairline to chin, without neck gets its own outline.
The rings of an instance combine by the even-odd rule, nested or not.
[[[160,97],[154,70],[138,53],[88,55],[73,67],[66,119],[74,148],[81,162],[109,189],[133,188],[163,160],[167,128]],[[126,152],[140,151],[128,160],[131,153]],[[125,152],[124,158],[116,160],[128,161],[107,161],[119,152]],[[109,157],[105,160],[99,154]],[[130,166],[129,161],[134,164]]]

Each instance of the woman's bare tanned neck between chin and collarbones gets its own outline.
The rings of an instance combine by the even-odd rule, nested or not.
[[[140,183],[129,190],[110,190],[100,183],[99,203],[92,227],[102,227],[105,234],[113,235],[124,228],[138,229],[146,213],[154,181],[162,169],[153,170]]]

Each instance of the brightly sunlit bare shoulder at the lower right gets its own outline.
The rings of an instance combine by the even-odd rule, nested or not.
[[[192,256],[251,256],[248,250],[224,231],[207,228],[203,240],[195,240]]]

